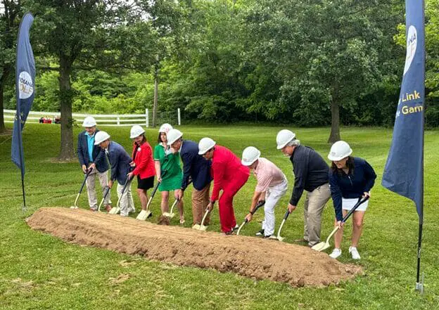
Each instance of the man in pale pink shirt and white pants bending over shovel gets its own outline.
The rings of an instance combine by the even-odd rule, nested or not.
[[[255,193],[253,194],[250,212],[247,214],[247,221],[251,221],[257,202],[265,200],[264,212],[265,219],[262,221],[262,229],[256,235],[262,235],[269,238],[274,234],[274,207],[277,202],[286,194],[288,190],[288,181],[284,172],[275,164],[264,157],[260,157],[260,150],[249,146],[243,151],[242,164],[253,169],[253,174],[257,179]]]

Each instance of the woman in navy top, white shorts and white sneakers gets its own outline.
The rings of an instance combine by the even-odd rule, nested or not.
[[[345,141],[333,143],[328,158],[332,161],[329,172],[329,185],[336,212],[335,225],[338,231],[335,235],[336,247],[329,255],[336,259],[341,255],[341,240],[343,238],[342,219],[360,198],[370,197],[370,190],[374,186],[376,174],[371,165],[360,157],[352,157],[352,149]],[[358,241],[362,234],[364,212],[369,200],[364,202],[352,214],[352,244],[349,252],[352,259],[360,259],[357,250]]]

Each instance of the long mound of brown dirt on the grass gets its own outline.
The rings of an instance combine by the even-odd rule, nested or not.
[[[140,254],[179,266],[231,271],[294,287],[336,284],[361,272],[359,266],[341,264],[328,254],[300,245],[158,226],[84,209],[42,208],[27,219],[27,224],[72,243]]]

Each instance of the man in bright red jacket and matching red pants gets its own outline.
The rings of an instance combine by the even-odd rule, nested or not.
[[[210,173],[213,177],[213,190],[208,209],[212,210],[222,190],[218,207],[221,231],[229,235],[237,228],[233,208],[234,195],[248,180],[250,170],[241,164],[239,158],[231,150],[224,146],[217,146],[211,138],[202,138],[198,143],[198,149],[198,154],[203,155],[207,160],[212,160]]]

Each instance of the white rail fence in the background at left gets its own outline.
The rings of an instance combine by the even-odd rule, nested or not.
[[[15,110],[3,110],[4,119],[7,123],[12,123],[15,119]],[[149,127],[152,124],[152,112],[145,109],[145,114],[82,114],[72,113],[72,118],[77,124],[82,124],[84,118],[92,116],[96,119],[98,125],[101,126],[132,126],[139,124]],[[42,119],[50,120],[51,124],[56,124],[56,120],[61,118],[61,112],[35,112],[30,111],[27,116],[27,123],[39,123]],[[180,109],[177,113],[172,112],[158,112],[157,123],[163,124],[168,122],[170,124],[182,124]]]

